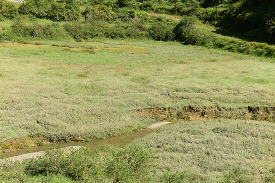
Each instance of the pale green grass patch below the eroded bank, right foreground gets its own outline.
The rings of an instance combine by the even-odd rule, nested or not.
[[[221,182],[230,171],[241,168],[246,170],[249,182],[273,182],[274,134],[275,125],[264,121],[180,121],[137,143],[153,148],[160,177],[167,171],[184,172]]]

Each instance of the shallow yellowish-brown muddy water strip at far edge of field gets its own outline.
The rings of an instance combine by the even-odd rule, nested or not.
[[[146,47],[139,47],[139,46],[129,46],[129,45],[111,45],[105,43],[98,43],[98,42],[78,42],[79,47],[77,48],[68,48],[59,46],[59,48],[66,48],[68,51],[77,51],[82,52],[84,49],[82,46],[85,47],[94,47],[93,50],[100,51],[100,50],[108,50],[108,51],[125,51],[137,54],[143,54],[148,48]],[[43,48],[43,47],[56,47],[52,45],[36,45],[36,44],[23,44],[23,43],[0,43],[0,47],[3,48],[12,48],[12,49],[36,49],[36,48]]]

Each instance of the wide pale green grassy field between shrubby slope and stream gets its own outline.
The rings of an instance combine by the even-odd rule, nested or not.
[[[0,141],[34,134],[51,140],[119,135],[152,123],[127,112],[144,107],[275,104],[274,59],[176,42],[101,41],[148,49],[89,54],[1,44]]]

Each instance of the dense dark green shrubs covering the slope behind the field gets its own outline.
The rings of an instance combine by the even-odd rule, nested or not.
[[[270,1],[266,3],[257,0],[253,2],[27,0],[20,4],[19,8],[7,1],[0,4],[3,20],[5,18],[16,20],[16,17],[23,17],[24,19],[48,19],[55,22],[69,21],[71,23],[65,24],[64,28],[78,41],[95,37],[154,39],[158,41],[179,40],[185,44],[221,48],[255,56],[274,57],[275,54],[274,46],[204,32],[193,26],[194,18],[185,17],[186,15],[195,16],[204,22],[221,25],[223,29],[217,29],[217,33],[220,34],[229,34],[232,29],[239,29],[244,32],[243,28],[245,28],[246,32],[241,38],[257,40],[254,39],[255,35],[263,35],[262,40],[273,43],[274,12],[272,12],[273,4]],[[209,8],[212,6],[219,6],[219,8]],[[244,11],[246,8],[248,10]],[[257,11],[254,12],[254,9]],[[162,16],[150,16],[150,12],[184,15],[184,17],[178,23]],[[263,16],[264,14],[267,15]],[[0,33],[0,41],[22,40],[18,36],[52,37],[56,35],[53,30],[56,29],[57,25],[47,23],[26,27],[24,23],[15,21],[12,28],[14,31],[4,30],[3,33]],[[62,32],[57,34],[61,35]]]

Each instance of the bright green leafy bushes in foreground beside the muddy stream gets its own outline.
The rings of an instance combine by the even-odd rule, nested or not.
[[[24,168],[31,176],[60,174],[77,181],[147,182],[155,168],[155,157],[141,145],[108,149],[104,156],[89,149],[47,150],[38,159],[31,159]]]

